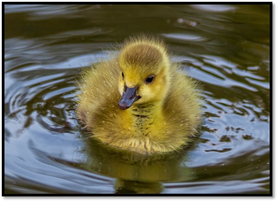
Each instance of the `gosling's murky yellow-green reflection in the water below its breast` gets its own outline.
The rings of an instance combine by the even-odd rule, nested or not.
[[[190,146],[191,149],[182,152],[143,155],[110,147],[92,138],[88,132],[82,136],[85,145],[80,152],[86,156],[86,162],[75,166],[117,178],[115,188],[118,193],[158,193],[163,191],[160,182],[190,181],[195,178],[194,169],[188,168],[185,161],[187,152],[195,147],[196,142]]]

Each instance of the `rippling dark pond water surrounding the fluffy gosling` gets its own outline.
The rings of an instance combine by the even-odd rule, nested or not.
[[[5,193],[270,193],[269,5],[5,5]],[[121,154],[76,120],[80,70],[130,35],[203,88],[189,148]]]

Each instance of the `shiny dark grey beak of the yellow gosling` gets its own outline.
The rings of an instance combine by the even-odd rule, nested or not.
[[[118,102],[118,105],[121,110],[126,110],[131,107],[131,105],[139,98],[140,97],[136,95],[136,88],[126,87],[121,99]]]

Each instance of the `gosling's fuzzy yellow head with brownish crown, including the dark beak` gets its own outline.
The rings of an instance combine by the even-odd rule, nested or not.
[[[126,44],[118,59],[121,73],[118,102],[126,110],[133,104],[163,101],[169,87],[170,60],[162,42],[133,41]]]

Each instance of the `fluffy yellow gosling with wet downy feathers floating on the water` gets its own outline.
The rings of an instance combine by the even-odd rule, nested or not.
[[[196,84],[171,62],[163,41],[141,36],[85,70],[78,118],[102,142],[150,154],[180,149],[200,123]]]

